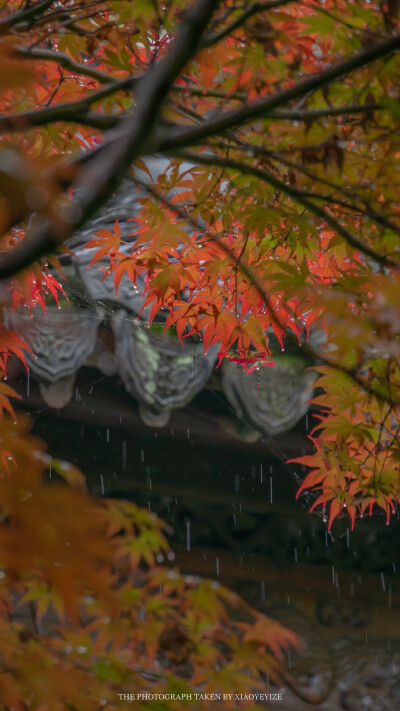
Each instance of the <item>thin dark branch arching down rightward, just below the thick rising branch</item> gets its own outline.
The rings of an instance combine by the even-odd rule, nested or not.
[[[400,270],[400,262],[397,262],[384,254],[379,254],[372,247],[364,244],[356,235],[354,235],[350,230],[342,225],[341,222],[336,220],[329,212],[327,212],[323,207],[316,205],[310,201],[309,197],[306,197],[301,190],[294,188],[292,185],[287,185],[283,181],[279,180],[275,175],[269,173],[265,170],[260,170],[252,165],[247,165],[246,163],[241,163],[240,161],[231,160],[230,158],[221,158],[217,155],[199,155],[197,153],[192,153],[191,151],[179,151],[179,157],[185,158],[192,163],[198,163],[200,165],[211,165],[225,167],[232,170],[237,170],[240,173],[253,175],[254,177],[262,180],[264,183],[272,185],[276,190],[286,193],[288,197],[292,198],[296,202],[303,205],[309,212],[312,212],[317,217],[320,217],[327,225],[329,225],[335,232],[341,235],[343,239],[359,252],[362,252],[368,257],[371,257],[375,262],[386,267],[393,267],[394,269]],[[308,194],[309,195],[309,194]]]

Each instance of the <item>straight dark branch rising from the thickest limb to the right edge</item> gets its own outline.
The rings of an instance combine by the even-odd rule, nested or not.
[[[209,136],[222,133],[229,128],[235,128],[259,116],[268,118],[268,113],[279,106],[299,99],[311,91],[321,89],[332,81],[335,81],[335,79],[340,79],[355,69],[360,69],[398,49],[400,49],[400,35],[395,35],[385,42],[373,45],[364,52],[360,52],[338,64],[334,64],[317,74],[312,74],[307,79],[298,82],[289,89],[276,92],[252,104],[241,106],[238,109],[214,114],[208,121],[204,121],[199,126],[176,127],[170,131],[169,135],[165,136],[164,140],[160,141],[161,145],[159,149],[170,150],[180,147],[184,148],[194,143],[199,143]]]

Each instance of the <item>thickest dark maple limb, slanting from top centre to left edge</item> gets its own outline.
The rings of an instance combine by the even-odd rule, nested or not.
[[[10,252],[0,255],[0,278],[9,278],[54,251],[112,195],[130,164],[146,153],[149,136],[171,85],[196,52],[217,4],[218,0],[199,0],[184,14],[165,57],[152,64],[138,82],[134,111],[125,118],[118,135],[80,170],[72,186],[75,199],[61,206],[52,219],[32,230]],[[110,88],[105,87],[96,94],[109,91]]]

